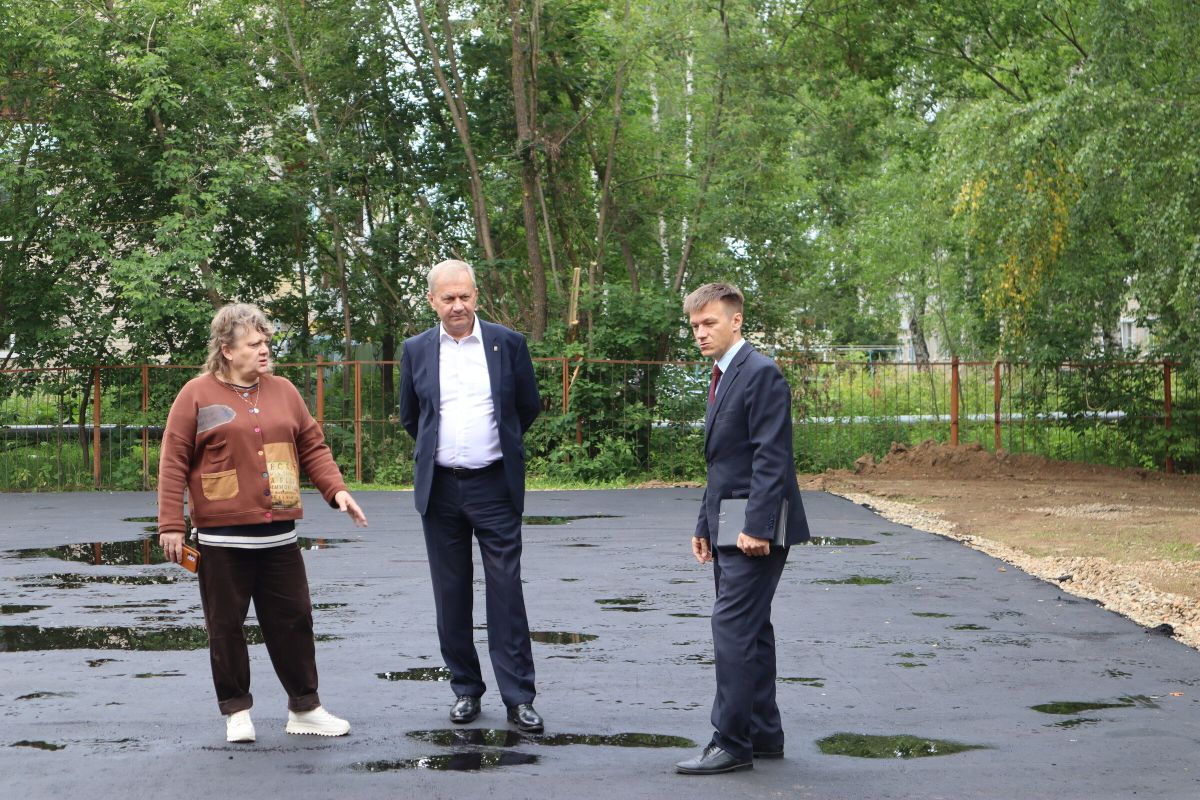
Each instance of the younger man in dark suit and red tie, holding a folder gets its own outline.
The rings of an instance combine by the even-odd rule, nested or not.
[[[713,649],[715,732],[704,750],[676,770],[715,775],[784,757],[775,703],[775,632],[770,603],[792,545],[809,539],[792,455],[792,392],[775,362],[742,338],[744,300],[737,287],[708,283],[684,300],[700,351],[713,359],[704,415],[708,481],[691,551],[712,561],[716,585]],[[721,500],[744,498],[744,518],[721,516]],[[736,539],[721,547],[718,524]],[[782,529],[780,543],[773,543]]]

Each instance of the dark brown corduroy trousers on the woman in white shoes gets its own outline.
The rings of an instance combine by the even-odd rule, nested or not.
[[[311,711],[320,705],[312,600],[300,548],[295,543],[264,549],[202,545],[200,553],[200,603],[221,714],[254,704],[245,632],[251,600],[275,674],[288,694],[288,709]]]

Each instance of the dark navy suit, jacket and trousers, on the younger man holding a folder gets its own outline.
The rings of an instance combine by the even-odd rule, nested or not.
[[[788,547],[809,539],[792,449],[792,396],[779,367],[749,342],[721,377],[704,419],[708,480],[695,536],[715,542],[721,498],[748,498],[740,531],[772,539],[787,500],[784,547],[751,558],[736,547],[713,548],[713,649],[716,698],[713,741],[739,759],[780,750],[784,728],[775,704],[775,632],[770,604]]]

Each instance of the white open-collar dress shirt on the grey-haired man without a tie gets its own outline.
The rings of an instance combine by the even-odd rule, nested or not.
[[[438,325],[438,467],[479,469],[499,461],[500,431],[492,407],[492,381],[479,317],[470,333],[455,339]]]

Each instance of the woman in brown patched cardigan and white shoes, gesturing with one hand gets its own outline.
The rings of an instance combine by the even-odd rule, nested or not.
[[[296,545],[300,469],[330,506],[366,525],[300,392],[271,374],[271,325],[230,303],[212,318],[209,359],[179,392],[158,464],[158,541],[180,563],[184,492],[199,539],[200,602],[228,741],[254,741],[244,624],[254,601],[266,651],[288,693],[288,733],[341,736],[350,724],[317,696],[312,602]]]

